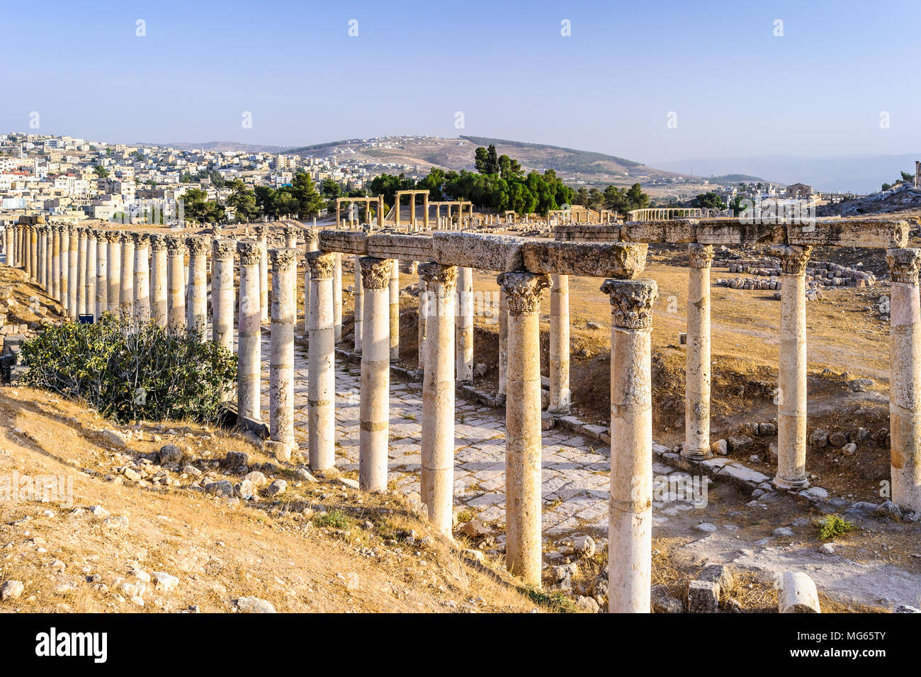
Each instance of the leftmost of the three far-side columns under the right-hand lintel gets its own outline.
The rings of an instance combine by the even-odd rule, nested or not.
[[[710,264],[713,245],[688,245],[687,352],[684,355],[682,456],[704,461],[710,451]]]

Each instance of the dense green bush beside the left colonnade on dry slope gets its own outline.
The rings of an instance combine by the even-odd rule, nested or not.
[[[85,401],[107,418],[212,423],[233,391],[237,357],[201,334],[103,315],[46,325],[22,345],[25,385]]]

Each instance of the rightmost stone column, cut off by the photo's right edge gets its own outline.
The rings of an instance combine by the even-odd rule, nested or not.
[[[921,250],[886,252],[892,274],[889,327],[889,426],[892,502],[921,510]]]

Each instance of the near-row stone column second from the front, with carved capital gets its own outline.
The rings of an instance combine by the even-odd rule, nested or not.
[[[506,563],[541,585],[541,334],[547,275],[503,273],[508,302],[506,400]]]

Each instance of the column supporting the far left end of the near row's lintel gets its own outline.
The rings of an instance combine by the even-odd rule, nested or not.
[[[335,462],[335,337],[332,333],[332,269],[335,256],[307,253],[309,269],[308,454],[310,468],[329,470]]]

